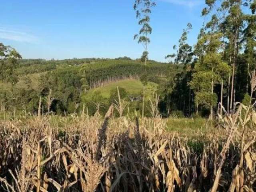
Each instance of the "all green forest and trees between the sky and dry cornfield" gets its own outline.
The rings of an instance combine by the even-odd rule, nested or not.
[[[256,2],[255,0],[206,0],[202,10],[205,22],[198,34],[198,42],[189,45],[188,23],[181,34],[174,54],[167,55],[168,62],[149,60],[152,28],[150,14],[154,2],[135,1],[136,18],[141,27],[134,39],[142,44],[142,57],[116,59],[88,58],[66,60],[22,59],[14,48],[0,44],[0,106],[1,111],[37,113],[40,98],[46,112],[73,113],[88,109],[106,112],[114,101],[99,92],[92,100],[87,92],[99,86],[122,79],[141,80],[144,88],[130,111],[146,113],[144,103],[150,97],[159,97],[158,108],[162,116],[212,116],[222,110],[222,104],[232,113],[236,102],[246,102],[250,97],[250,74],[256,68]],[[163,56],[164,57],[164,56]],[[148,82],[157,84],[151,96],[145,97]],[[122,87],[120,88],[122,89]],[[111,90],[112,97],[117,92]],[[147,90],[146,90],[147,91]],[[122,97],[131,97],[122,89]],[[96,103],[92,105],[91,103]],[[97,105],[98,103],[98,105]],[[132,103],[132,102],[131,102]],[[99,107],[99,104],[102,107]]]

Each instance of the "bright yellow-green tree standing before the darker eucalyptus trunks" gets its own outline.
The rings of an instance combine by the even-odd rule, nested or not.
[[[218,53],[222,44],[220,38],[220,33],[209,33],[198,40],[198,44],[204,45],[205,55],[195,64],[190,87],[196,93],[196,103],[206,108],[217,105],[218,97],[213,92],[214,87],[230,74],[230,67]]]

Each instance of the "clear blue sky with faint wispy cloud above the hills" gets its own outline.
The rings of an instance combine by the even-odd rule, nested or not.
[[[23,58],[139,58],[134,0],[2,0],[0,42]],[[190,22],[196,42],[204,0],[155,0],[150,59],[165,61]]]

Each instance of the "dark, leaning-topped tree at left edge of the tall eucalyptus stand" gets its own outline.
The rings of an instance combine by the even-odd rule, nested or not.
[[[183,33],[179,39],[178,49],[176,54],[168,55],[165,58],[174,58],[174,64],[176,64],[178,72],[170,72],[164,92],[163,101],[166,103],[165,116],[171,115],[171,111],[182,111],[184,116],[190,116],[192,108],[192,92],[188,86],[188,82],[191,80],[191,69],[193,50],[192,46],[187,43],[188,33],[192,29],[190,23],[187,24],[187,28],[183,30]],[[173,46],[176,50],[176,45]]]

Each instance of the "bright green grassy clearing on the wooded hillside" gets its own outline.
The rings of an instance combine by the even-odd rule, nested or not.
[[[117,86],[124,88],[128,92],[128,94],[131,95],[140,94],[143,90],[143,84],[142,82],[140,82],[140,80],[121,80],[118,82],[106,84],[103,87],[98,87],[96,89],[90,90],[88,93],[84,94],[83,97],[91,98],[96,91],[100,91],[104,98],[109,98],[110,91]],[[146,96],[150,96],[150,94],[152,94],[153,92],[153,88],[156,86],[157,84],[149,82],[146,86]]]

